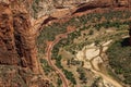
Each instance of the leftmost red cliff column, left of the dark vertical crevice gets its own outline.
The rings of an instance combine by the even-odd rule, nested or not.
[[[11,9],[8,4],[0,3],[0,63],[19,64]]]

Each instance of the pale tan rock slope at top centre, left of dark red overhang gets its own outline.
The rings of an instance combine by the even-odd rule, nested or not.
[[[58,9],[72,9],[93,0],[33,0],[32,15],[37,18],[55,13]]]

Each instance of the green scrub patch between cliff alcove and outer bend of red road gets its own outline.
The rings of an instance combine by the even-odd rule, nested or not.
[[[55,37],[57,35],[63,34],[66,32],[67,32],[66,26],[62,26],[58,23],[45,27],[37,38],[37,46],[39,51],[45,52],[46,41],[52,41],[55,40]]]

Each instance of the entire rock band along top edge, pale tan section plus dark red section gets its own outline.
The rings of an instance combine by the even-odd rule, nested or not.
[[[90,3],[88,3],[90,2]],[[129,7],[130,0],[33,0],[32,1],[32,16],[35,18],[43,15],[49,15],[56,12],[58,9],[76,8],[83,3],[88,3],[88,7]]]

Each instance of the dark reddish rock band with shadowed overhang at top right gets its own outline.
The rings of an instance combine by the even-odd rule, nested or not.
[[[130,1],[128,0],[93,0],[88,3],[85,3],[83,5],[80,5],[74,13],[79,13],[79,12],[84,12],[87,10],[93,10],[93,9],[97,9],[97,8],[119,8],[119,7],[126,7],[126,8],[130,8]]]

